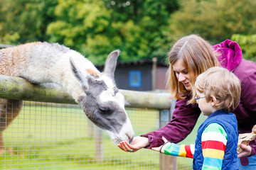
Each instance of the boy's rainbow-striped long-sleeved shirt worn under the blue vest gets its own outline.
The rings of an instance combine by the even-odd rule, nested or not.
[[[227,133],[218,123],[211,123],[203,130],[201,139],[204,158],[202,169],[221,169],[227,139]],[[161,153],[176,157],[193,158],[194,151],[195,145],[176,145],[171,142],[161,148]]]

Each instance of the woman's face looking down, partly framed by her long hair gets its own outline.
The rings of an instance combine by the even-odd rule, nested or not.
[[[176,77],[179,82],[185,86],[185,89],[187,91],[191,91],[191,85],[189,84],[189,75],[188,75],[188,69],[184,67],[184,64],[181,60],[176,61],[173,64],[173,69],[176,74]]]

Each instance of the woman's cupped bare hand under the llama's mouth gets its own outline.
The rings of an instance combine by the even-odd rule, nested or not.
[[[149,138],[147,137],[134,137],[132,140],[132,145],[128,142],[120,142],[117,147],[122,149],[124,152],[137,152],[137,150],[142,149],[149,145]]]

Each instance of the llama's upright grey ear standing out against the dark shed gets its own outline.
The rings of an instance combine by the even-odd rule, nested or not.
[[[114,70],[117,66],[117,57],[119,56],[120,50],[114,50],[107,57],[104,67],[104,74],[110,79],[114,80]]]

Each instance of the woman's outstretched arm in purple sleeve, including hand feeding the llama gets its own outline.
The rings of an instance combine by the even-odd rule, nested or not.
[[[170,142],[180,142],[185,139],[186,136],[191,133],[193,127],[196,125],[196,121],[201,113],[198,105],[187,105],[189,97],[185,100],[176,101],[176,106],[173,113],[173,118],[170,123],[163,128],[149,132],[145,135],[134,137],[132,144],[127,142],[120,142],[117,145],[125,152],[136,152],[142,148],[151,149],[151,147],[159,147],[164,144],[162,137],[166,137]]]

